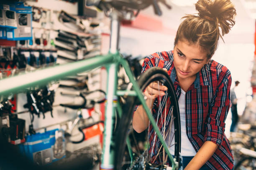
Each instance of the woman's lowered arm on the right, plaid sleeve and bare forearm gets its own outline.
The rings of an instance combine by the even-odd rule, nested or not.
[[[184,170],[199,170],[207,160],[215,153],[215,150],[221,145],[224,131],[225,119],[230,107],[230,72],[222,72],[215,95],[213,105],[210,107],[211,113],[206,118],[205,143],[198,150],[195,157],[189,162]]]

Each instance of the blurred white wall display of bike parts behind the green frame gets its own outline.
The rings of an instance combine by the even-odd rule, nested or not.
[[[0,4],[0,79],[100,55],[103,15],[90,10],[95,18],[78,16],[77,1]],[[44,87],[1,96],[0,129],[4,140],[40,166],[61,159],[71,161],[66,151],[72,155],[95,143],[101,146],[103,130],[99,121],[104,116],[100,103],[105,100],[105,92],[99,91],[101,78],[102,70],[95,69]],[[97,133],[81,138],[78,128],[84,127],[86,132],[91,128],[86,125],[93,123],[99,127]],[[40,149],[33,143],[40,143]]]

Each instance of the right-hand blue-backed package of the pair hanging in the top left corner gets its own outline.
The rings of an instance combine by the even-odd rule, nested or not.
[[[7,40],[32,40],[32,7],[15,3],[17,29],[7,30]]]

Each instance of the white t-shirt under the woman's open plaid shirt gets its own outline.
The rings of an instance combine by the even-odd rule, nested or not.
[[[181,155],[182,156],[195,156],[196,151],[187,138],[186,133],[186,114],[185,114],[185,95],[186,92],[181,89],[181,94],[179,97],[179,114],[180,114],[180,131],[181,131]],[[170,153],[174,155],[174,138],[172,140],[172,136],[174,135],[174,125],[172,123],[171,136],[169,134],[166,136],[165,141],[169,146]],[[170,138],[171,137],[171,138]],[[172,143],[168,143],[169,139],[172,140]]]

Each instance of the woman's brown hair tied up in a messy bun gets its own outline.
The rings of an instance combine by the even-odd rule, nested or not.
[[[235,25],[236,9],[230,0],[198,0],[195,7],[199,13],[183,17],[185,20],[179,25],[174,45],[178,40],[187,40],[200,45],[207,52],[207,58],[211,58],[219,37],[223,40],[222,36]]]

